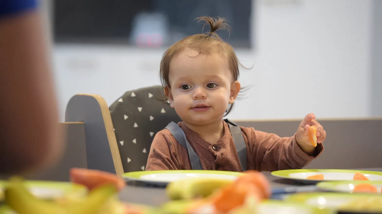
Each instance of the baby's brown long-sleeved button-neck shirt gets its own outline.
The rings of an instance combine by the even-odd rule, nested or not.
[[[200,158],[203,169],[241,172],[235,143],[228,124],[223,121],[223,137],[210,144],[199,134],[179,122],[189,144]],[[257,131],[253,127],[240,127],[247,147],[247,169],[275,171],[282,169],[301,169],[319,156],[324,147],[317,144],[315,156],[302,151],[293,137],[278,137]],[[215,146],[215,151],[212,147]],[[217,147],[217,148],[216,148]],[[192,169],[188,152],[178,143],[168,129],[158,132],[152,142],[146,170]]]

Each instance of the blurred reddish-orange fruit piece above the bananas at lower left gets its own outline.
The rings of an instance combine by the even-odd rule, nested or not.
[[[117,175],[95,169],[72,168],[70,180],[73,183],[85,185],[89,190],[105,184],[115,185],[118,190],[121,190],[126,185],[125,180]]]

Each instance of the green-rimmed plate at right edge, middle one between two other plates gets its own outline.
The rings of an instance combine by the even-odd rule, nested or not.
[[[377,188],[377,193],[381,193],[382,181],[324,181],[317,183],[316,186],[319,189],[326,191],[353,193],[354,186],[361,183],[368,183],[374,185]]]

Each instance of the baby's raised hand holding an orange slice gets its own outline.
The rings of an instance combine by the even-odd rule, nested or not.
[[[309,127],[317,127],[317,143],[324,142],[326,138],[326,131],[319,122],[315,121],[316,116],[313,113],[307,114],[304,120],[301,122],[300,126],[297,129],[296,141],[301,150],[303,150],[308,155],[313,155],[315,147],[309,141]]]

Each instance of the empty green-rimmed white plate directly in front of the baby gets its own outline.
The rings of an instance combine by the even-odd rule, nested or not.
[[[235,180],[242,172],[229,172],[217,170],[161,170],[161,171],[137,171],[123,174],[127,180],[137,180],[145,183],[166,185],[169,182],[190,178],[214,178]]]

